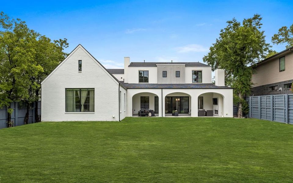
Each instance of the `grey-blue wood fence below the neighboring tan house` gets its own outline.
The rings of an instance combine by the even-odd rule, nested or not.
[[[293,124],[293,94],[248,98],[248,117]]]

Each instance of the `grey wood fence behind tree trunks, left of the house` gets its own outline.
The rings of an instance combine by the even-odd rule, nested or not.
[[[27,112],[26,106],[19,105],[18,102],[12,102],[11,107],[13,113],[11,115],[11,120],[13,121],[13,126],[20,126],[24,124],[24,117]],[[34,122],[34,107],[29,110],[28,122]],[[38,102],[38,114],[41,115],[41,101]],[[7,127],[7,109],[2,107],[0,109],[0,129]]]

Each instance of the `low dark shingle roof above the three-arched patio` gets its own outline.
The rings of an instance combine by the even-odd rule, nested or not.
[[[215,86],[212,83],[197,84],[142,84],[142,83],[124,83],[121,84],[125,88],[230,88],[227,86]]]

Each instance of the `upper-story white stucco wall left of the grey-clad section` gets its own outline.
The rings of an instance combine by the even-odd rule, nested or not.
[[[128,67],[128,83],[139,83],[138,71],[149,71],[149,83],[157,83],[157,67]],[[126,77],[126,75],[125,75]]]

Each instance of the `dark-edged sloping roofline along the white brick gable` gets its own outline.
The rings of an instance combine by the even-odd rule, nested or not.
[[[93,60],[95,60],[98,64],[99,64],[99,66],[101,66],[105,71],[106,71],[106,73],[107,74],[109,74],[109,76],[112,78],[112,79],[114,79],[116,82],[117,82],[117,84],[120,84],[120,82],[118,81],[118,79],[116,78],[116,77],[114,77],[101,63],[99,63],[99,61],[95,58],[95,57],[93,57],[92,56],[92,54],[90,54],[81,44],[79,44],[77,47],[75,47],[68,55],[67,55],[67,57],[62,61],[62,62],[60,62],[59,64],[58,64],[58,66],[56,66],[56,68],[41,82],[41,84],[43,84],[78,48],[81,48],[81,49],[83,49]],[[122,84],[121,84],[121,86],[123,87],[123,88],[125,88]],[[126,88],[125,88],[126,89]]]

